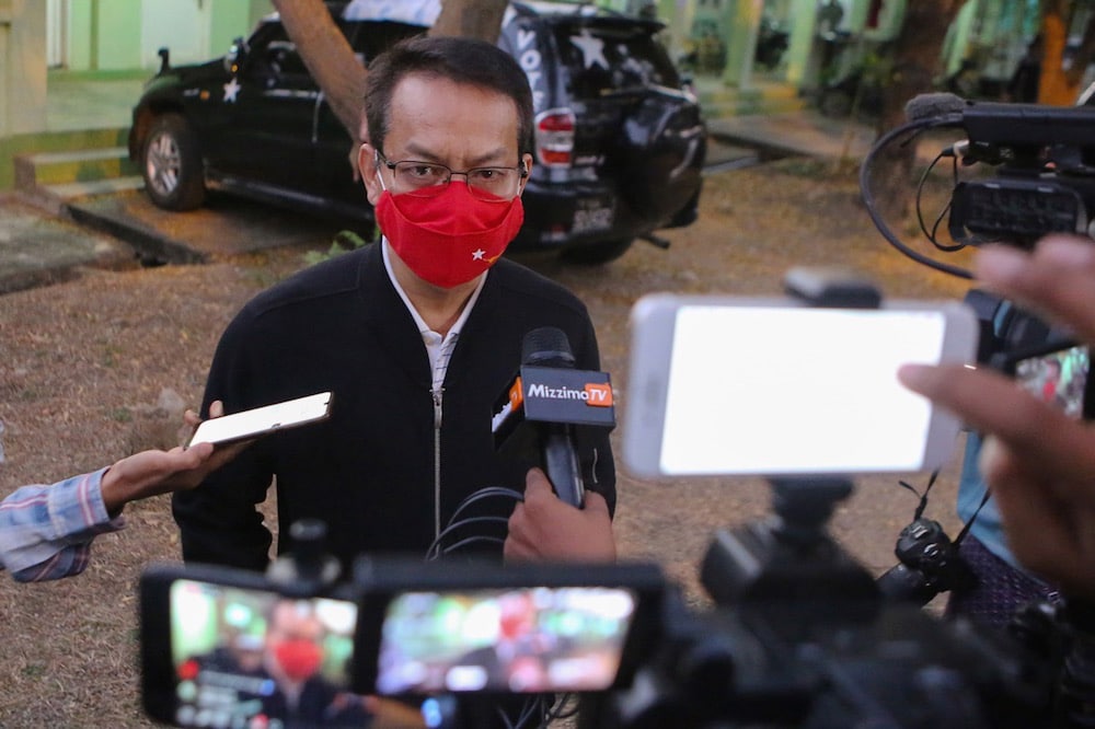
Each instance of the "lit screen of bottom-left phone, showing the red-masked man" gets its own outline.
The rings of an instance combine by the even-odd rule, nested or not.
[[[169,600],[176,726],[277,729],[315,718],[287,702],[301,686],[316,716],[331,719],[324,726],[360,722],[364,709],[345,693],[355,603],[187,579],[171,585]]]

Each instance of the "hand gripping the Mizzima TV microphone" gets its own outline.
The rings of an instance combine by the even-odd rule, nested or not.
[[[525,501],[509,518],[506,537],[509,562],[614,562],[615,540],[608,504],[586,491],[584,509],[558,500],[539,468],[525,478]]]

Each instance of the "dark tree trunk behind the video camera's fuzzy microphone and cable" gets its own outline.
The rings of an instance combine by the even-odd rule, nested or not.
[[[894,68],[883,89],[879,131],[904,124],[904,104],[933,91],[933,79],[942,70],[943,39],[963,4],[964,0],[912,0],[907,4],[901,33],[895,42]],[[900,220],[909,210],[915,185],[914,157],[914,146],[890,144],[875,158],[871,192],[887,220]]]

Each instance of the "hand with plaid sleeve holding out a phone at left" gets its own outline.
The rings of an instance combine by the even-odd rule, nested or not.
[[[223,414],[220,401],[210,405],[210,417]],[[200,421],[192,410],[187,410],[184,418],[192,429]],[[116,516],[129,501],[194,488],[251,442],[243,441],[216,450],[211,443],[197,443],[191,448],[173,448],[170,451],[142,451],[122,459],[103,475],[101,490],[106,511]]]

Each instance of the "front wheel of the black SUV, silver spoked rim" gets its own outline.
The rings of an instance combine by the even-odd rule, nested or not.
[[[205,199],[201,151],[191,125],[177,114],[152,123],[141,154],[145,189],[161,208],[193,210]]]

